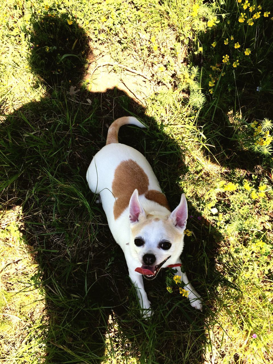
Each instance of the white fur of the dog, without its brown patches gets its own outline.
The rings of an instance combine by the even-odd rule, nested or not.
[[[128,117],[128,124],[144,127],[133,117]],[[120,143],[108,144],[94,156],[88,167],[86,179],[91,191],[100,196],[111,233],[124,252],[129,276],[137,288],[139,302],[144,311],[143,314],[148,317],[151,314],[150,301],[144,289],[142,274],[135,272],[135,269],[143,264],[142,257],[144,254],[154,254],[156,257],[155,265],[160,264],[170,256],[161,268],[170,264],[181,263],[180,254],[183,250],[183,236],[187,219],[186,198],[183,194],[177,208],[170,213],[166,207],[146,199],[144,195],[138,196],[138,191],[135,190],[129,206],[115,219],[113,210],[116,199],[112,193],[112,182],[116,167],[122,161],[128,159],[138,163],[145,171],[149,179],[149,190],[161,191],[157,178],[146,158],[134,148]],[[130,221],[129,215],[134,215],[135,211],[137,211],[136,215],[130,217]],[[183,220],[180,223],[181,226],[178,226],[179,223],[177,224],[179,218]],[[147,219],[149,219],[149,223],[147,223]],[[141,228],[142,225],[143,228]],[[134,230],[135,226],[141,228],[139,235],[145,240],[144,246],[137,247],[134,244],[135,236],[132,235],[132,229]],[[171,237],[168,236],[170,232]],[[179,233],[178,239],[177,232]],[[158,247],[160,241],[164,239],[169,241],[173,236],[176,238],[173,238],[169,250]],[[181,280],[185,284],[184,289],[189,291],[191,306],[202,310],[200,296],[189,283],[186,274],[181,272],[179,267],[174,269],[177,269],[176,274],[181,276]]]

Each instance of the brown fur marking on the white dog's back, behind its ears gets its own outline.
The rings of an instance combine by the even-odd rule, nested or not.
[[[139,195],[145,195],[150,201],[154,201],[166,207],[170,211],[165,195],[156,190],[148,190],[149,179],[145,171],[132,159],[121,162],[116,167],[112,192],[115,196],[114,218],[117,219],[129,205],[130,198],[135,189]]]

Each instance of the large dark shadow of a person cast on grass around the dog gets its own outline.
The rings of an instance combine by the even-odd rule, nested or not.
[[[137,299],[131,297],[135,290],[131,289],[122,250],[114,242],[102,208],[95,203],[85,179],[92,156],[105,145],[106,124],[124,115],[137,115],[149,129],[122,127],[120,141],[146,156],[174,209],[182,193],[179,178],[187,173],[183,150],[145,115],[142,106],[120,90],[70,94],[70,86],[76,85],[70,72],[75,70],[76,78],[82,78],[88,39],[78,25],[68,24],[72,25],[70,32],[67,24],[66,16],[61,15],[53,21],[48,17],[33,21],[31,68],[37,74],[42,62],[40,76],[49,85],[49,95],[22,106],[1,124],[9,179],[1,198],[6,206],[23,206],[27,239],[38,252],[40,265],[42,283],[37,281],[35,285],[42,285],[46,292],[45,361],[100,363],[108,337],[108,348],[115,348],[116,358],[120,351],[126,351],[128,357],[135,356],[142,362],[149,357],[157,363],[199,363],[209,314],[206,305],[203,313],[197,312],[188,300],[176,293],[169,295],[162,272],[157,280],[146,284],[154,316],[150,321],[141,318]],[[52,35],[51,44],[48,37],[44,39],[46,33]],[[78,39],[76,44],[82,48],[74,46],[75,56],[63,49],[58,64],[43,63],[46,47],[54,52],[54,47],[57,52],[63,48],[63,43],[56,46],[60,39],[72,44],[71,48]],[[37,51],[35,44],[43,50]],[[85,56],[81,58],[80,54]],[[58,68],[62,62],[63,68]],[[197,211],[188,204],[187,228],[197,238],[185,237],[182,259],[190,281],[205,298],[206,290],[225,284],[214,269],[217,242],[222,237],[209,223],[199,220]],[[209,269],[202,264],[203,256]],[[198,277],[206,280],[206,290],[198,284]],[[109,329],[111,320],[119,329]]]

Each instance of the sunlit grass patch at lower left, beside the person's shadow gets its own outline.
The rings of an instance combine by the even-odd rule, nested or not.
[[[1,211],[0,350],[7,363],[41,363],[45,356],[45,297],[37,251],[22,233],[21,208]]]

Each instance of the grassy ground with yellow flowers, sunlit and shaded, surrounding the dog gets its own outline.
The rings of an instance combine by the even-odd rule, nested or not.
[[[273,14],[261,5],[247,26],[249,7],[241,23],[231,1],[1,2],[2,361],[272,362]],[[172,208],[186,194],[182,258],[202,313],[167,271],[146,282],[154,315],[141,318],[88,190],[124,115],[147,124],[120,141],[145,154]]]

